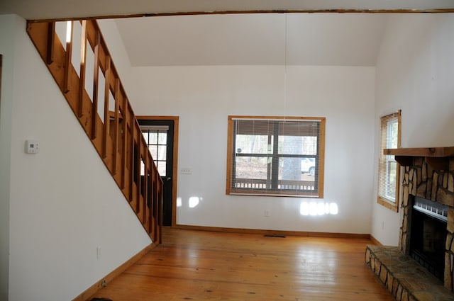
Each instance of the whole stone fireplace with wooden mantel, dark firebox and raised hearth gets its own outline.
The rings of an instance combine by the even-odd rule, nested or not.
[[[385,154],[404,168],[399,245],[367,246],[365,262],[396,300],[454,300],[454,147]]]

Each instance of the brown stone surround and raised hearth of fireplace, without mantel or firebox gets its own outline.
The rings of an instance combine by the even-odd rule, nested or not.
[[[402,179],[399,246],[367,246],[365,262],[398,301],[454,300],[454,158],[449,159],[448,170],[433,169],[424,157],[411,161]],[[412,195],[449,206],[444,283],[409,257]]]

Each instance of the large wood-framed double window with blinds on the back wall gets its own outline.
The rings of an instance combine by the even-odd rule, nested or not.
[[[230,195],[323,197],[325,118],[228,116]]]

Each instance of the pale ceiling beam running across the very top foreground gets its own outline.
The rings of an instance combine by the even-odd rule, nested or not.
[[[3,0],[0,14],[77,20],[226,13],[452,13],[452,0]]]

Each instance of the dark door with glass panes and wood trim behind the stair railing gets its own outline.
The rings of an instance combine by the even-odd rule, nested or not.
[[[157,171],[164,183],[162,225],[172,226],[174,120],[138,120]]]

